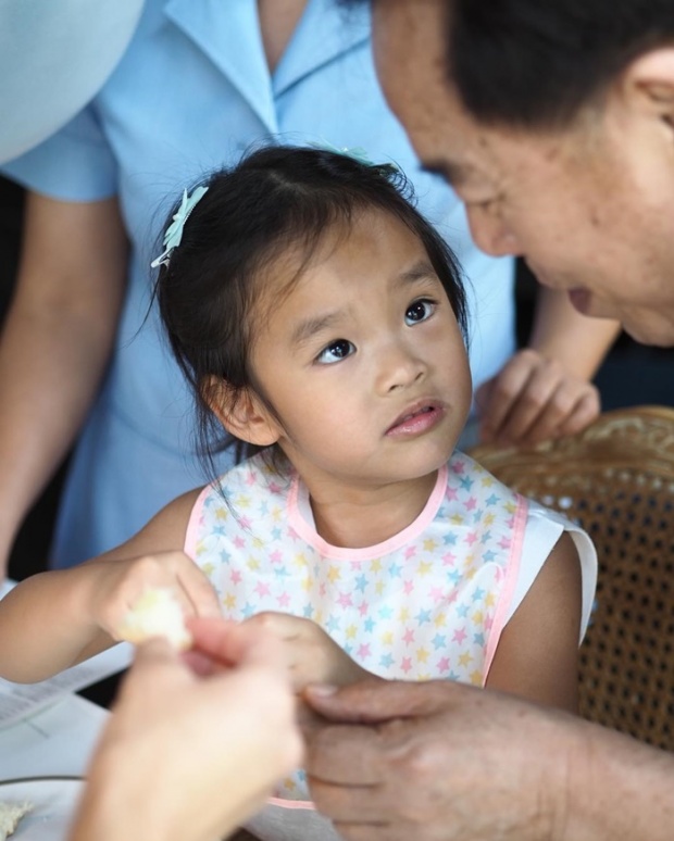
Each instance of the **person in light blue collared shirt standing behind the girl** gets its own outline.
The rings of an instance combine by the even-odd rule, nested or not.
[[[117,545],[202,482],[188,392],[151,305],[149,264],[170,197],[272,138],[360,147],[411,178],[420,210],[467,275],[485,438],[536,440],[596,416],[588,380],[615,327],[576,317],[550,296],[544,327],[515,353],[513,263],[477,250],[454,193],[420,168],[377,83],[367,9],[146,0],[129,47],[89,105],[3,167],[29,194],[0,348],[0,558],[83,424],[55,566]],[[220,468],[232,457],[223,454]]]

